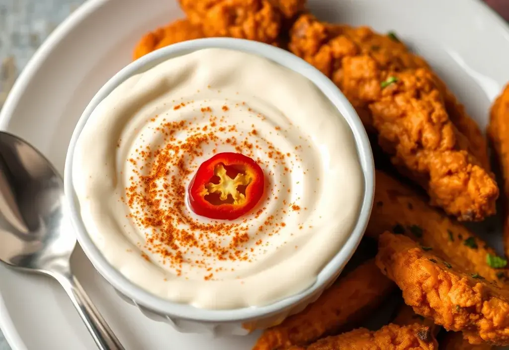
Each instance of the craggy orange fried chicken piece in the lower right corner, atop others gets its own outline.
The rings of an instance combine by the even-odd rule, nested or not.
[[[472,344],[509,345],[509,291],[465,274],[404,235],[384,232],[376,262],[403,291],[405,303]]]

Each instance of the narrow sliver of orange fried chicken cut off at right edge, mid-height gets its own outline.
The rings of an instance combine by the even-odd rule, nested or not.
[[[503,240],[505,254],[509,256],[509,85],[505,86],[502,94],[491,107],[488,135],[493,143],[498,165],[504,180],[504,228]]]

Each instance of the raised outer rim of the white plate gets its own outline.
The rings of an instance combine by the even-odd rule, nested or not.
[[[44,42],[39,46],[29,62],[22,69],[16,79],[5,103],[0,109],[0,130],[6,130],[12,119],[13,111],[17,107],[19,100],[23,96],[29,82],[35,73],[40,69],[42,63],[47,59],[54,47],[58,45],[65,36],[78,26],[87,16],[95,12],[99,7],[103,6],[110,0],[86,0],[75,11],[73,11],[66,19],[64,19],[55,30],[49,34]],[[509,23],[506,22],[495,10],[489,7],[483,0],[464,0],[465,4],[476,7],[480,13],[494,21],[495,25],[501,29],[509,37]],[[27,350],[27,347],[21,339],[12,318],[7,310],[5,300],[0,290],[0,329],[4,337],[13,350]]]

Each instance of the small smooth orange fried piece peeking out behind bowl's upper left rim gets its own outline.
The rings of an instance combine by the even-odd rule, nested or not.
[[[164,46],[200,38],[205,38],[205,34],[199,25],[192,24],[188,19],[178,19],[144,35],[134,48],[133,59],[137,60]]]

